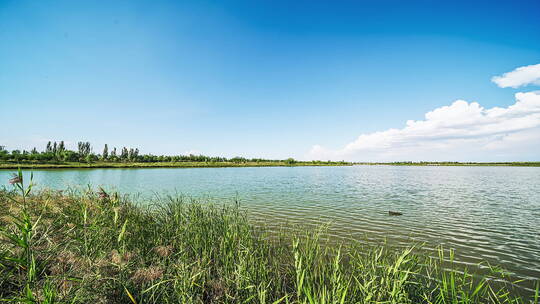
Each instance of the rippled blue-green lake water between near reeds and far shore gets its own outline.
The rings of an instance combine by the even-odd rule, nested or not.
[[[0,170],[0,185],[14,171]],[[66,169],[35,170],[34,181],[54,189],[103,185],[141,201],[164,192],[237,198],[270,229],[330,223],[335,239],[442,244],[463,265],[486,260],[516,278],[540,278],[538,167]]]

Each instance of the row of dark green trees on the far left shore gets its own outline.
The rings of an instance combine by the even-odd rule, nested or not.
[[[27,150],[8,151],[4,146],[0,146],[0,161],[8,162],[280,162],[283,160],[270,160],[262,158],[244,158],[244,157],[211,157],[205,155],[152,155],[140,154],[138,148],[122,147],[117,150],[116,147],[109,148],[107,144],[103,147],[101,153],[95,153],[90,142],[78,142],[77,150],[66,148],[64,141],[49,141],[45,150],[38,151],[33,148]],[[288,164],[294,164],[297,161],[293,158],[284,160]]]

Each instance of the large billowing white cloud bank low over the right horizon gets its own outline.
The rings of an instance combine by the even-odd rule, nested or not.
[[[315,145],[308,157],[354,161],[527,157],[540,148],[540,141],[533,143],[536,148],[530,148],[530,141],[540,138],[540,93],[517,93],[515,98],[515,104],[507,108],[491,109],[457,100],[426,113],[424,120],[407,121],[404,128],[362,134],[342,149]],[[520,145],[529,148],[516,150]],[[539,158],[540,152],[535,155]]]

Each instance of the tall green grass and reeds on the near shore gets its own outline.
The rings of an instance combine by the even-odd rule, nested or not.
[[[15,185],[18,180],[14,180]],[[411,249],[273,235],[237,206],[0,191],[0,299],[21,303],[537,303]],[[448,264],[445,264],[448,266]]]

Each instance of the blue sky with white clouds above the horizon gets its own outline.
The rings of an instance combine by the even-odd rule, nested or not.
[[[540,1],[0,0],[0,145],[539,161]]]

